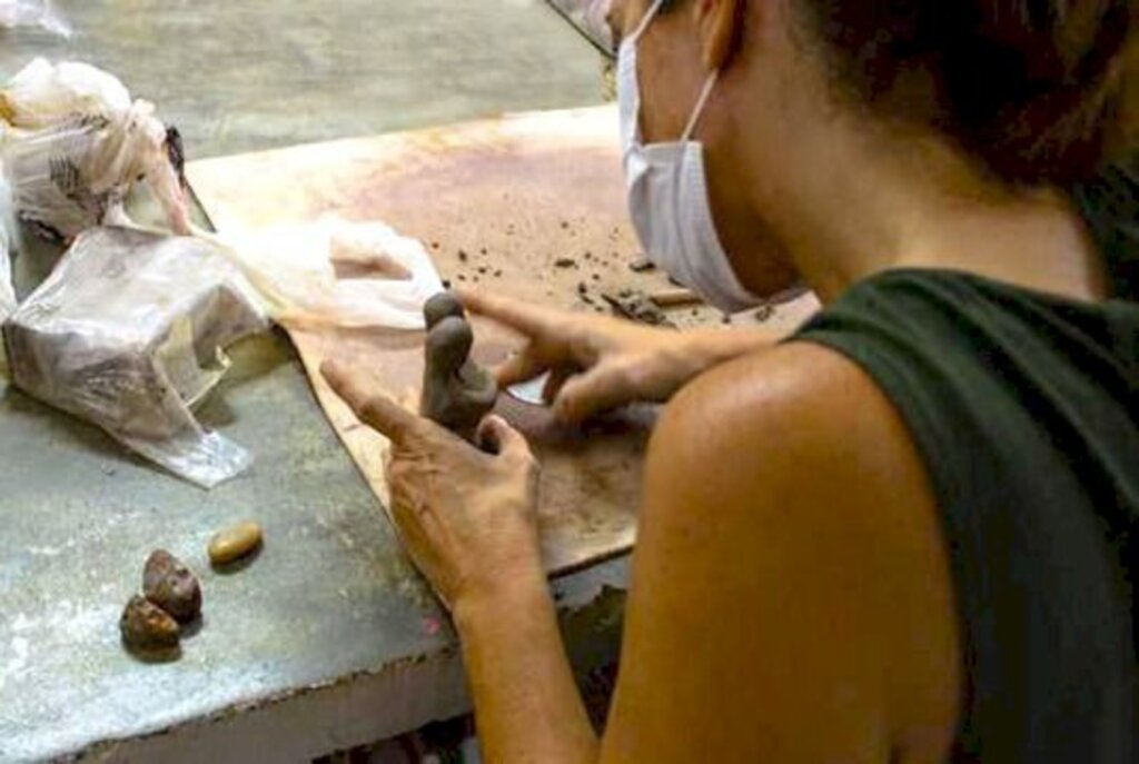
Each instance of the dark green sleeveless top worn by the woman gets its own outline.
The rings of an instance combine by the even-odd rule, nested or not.
[[[965,648],[958,761],[1131,764],[1139,303],[890,271],[794,339],[865,369],[931,476]]]

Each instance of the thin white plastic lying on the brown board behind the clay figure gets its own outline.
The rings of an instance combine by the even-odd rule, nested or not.
[[[443,289],[423,244],[378,222],[326,217],[226,241],[286,327],[423,329],[424,303]]]

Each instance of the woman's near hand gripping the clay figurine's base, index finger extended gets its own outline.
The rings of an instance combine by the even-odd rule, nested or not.
[[[506,420],[483,420],[480,451],[435,422],[369,392],[349,369],[321,373],[366,425],[392,442],[391,510],[412,561],[457,609],[541,573],[538,462]]]

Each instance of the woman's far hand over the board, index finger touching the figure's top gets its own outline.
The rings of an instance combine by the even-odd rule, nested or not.
[[[543,397],[567,424],[639,401],[664,402],[716,360],[700,332],[657,329],[615,318],[558,311],[470,290],[472,313],[528,343],[498,370],[502,387],[550,372]],[[718,332],[722,334],[722,332]],[[743,332],[732,332],[743,334]]]

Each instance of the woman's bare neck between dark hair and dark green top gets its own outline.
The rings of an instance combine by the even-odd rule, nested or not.
[[[781,158],[788,182],[759,202],[823,302],[898,268],[961,270],[1075,299],[1106,296],[1101,260],[1062,194],[1002,189],[937,139],[869,135],[852,122],[818,120],[806,131],[813,135],[798,128],[785,143],[797,156]]]

